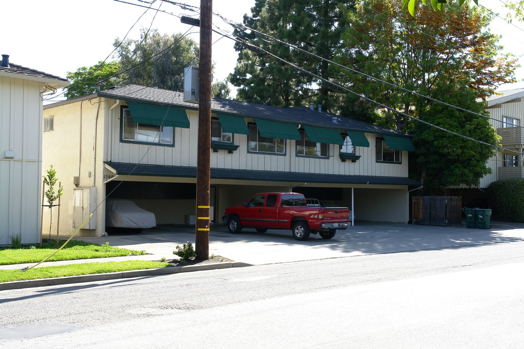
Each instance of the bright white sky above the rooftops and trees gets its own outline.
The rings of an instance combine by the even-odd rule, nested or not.
[[[149,6],[137,0],[124,1]],[[180,2],[200,7],[200,0]],[[160,4],[160,9],[178,16],[195,14],[160,1],[156,1],[152,8],[156,9]],[[250,8],[254,4],[255,0],[214,0],[213,12],[242,22],[243,15],[250,14]],[[499,1],[484,0],[481,4],[494,9],[495,12],[506,13],[505,9],[501,9]],[[2,1],[0,22],[3,32],[0,35],[0,54],[9,54],[9,61],[12,63],[65,77],[68,71],[74,72],[81,66],[91,66],[104,60],[113,51],[115,38],[122,39],[145,10],[144,7],[114,0]],[[152,9],[148,10],[134,26],[128,38],[138,39],[140,28],[148,28],[151,21],[151,28],[158,29],[160,33],[185,32],[191,28],[182,24],[179,17],[166,13],[159,12],[153,20],[155,12]],[[196,17],[198,18],[198,15]],[[233,30],[216,16],[213,17],[213,24],[228,31]],[[515,24],[524,28],[521,22]],[[506,52],[524,54],[524,31],[499,19],[495,20],[490,28],[493,33],[503,36],[501,43],[506,47]],[[198,28],[193,27],[192,31],[195,32],[192,38],[198,42]],[[213,33],[213,42],[219,38],[220,36]],[[233,43],[230,39],[222,38],[213,44],[214,78],[217,80],[223,80],[233,72],[238,57]],[[524,60],[522,63],[524,64]],[[517,78],[524,79],[524,67],[517,71]],[[524,87],[524,83],[511,87]]]

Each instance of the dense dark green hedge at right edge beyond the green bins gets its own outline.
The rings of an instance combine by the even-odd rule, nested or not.
[[[488,187],[492,216],[507,222],[524,222],[524,178],[500,179]]]

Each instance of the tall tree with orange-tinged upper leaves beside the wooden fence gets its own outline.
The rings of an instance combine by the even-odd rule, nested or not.
[[[340,62],[368,76],[341,69],[343,83],[352,91],[400,110],[378,108],[375,123],[410,132],[416,153],[411,175],[427,193],[448,186],[472,185],[489,173],[486,160],[495,148],[460,138],[413,118],[464,136],[496,144],[495,130],[482,116],[445,106],[432,99],[482,112],[477,99],[514,82],[515,59],[500,55],[498,38],[486,28],[491,19],[484,9],[463,5],[435,14],[420,6],[412,17],[401,0],[365,0],[348,10]],[[401,86],[402,90],[395,86]]]

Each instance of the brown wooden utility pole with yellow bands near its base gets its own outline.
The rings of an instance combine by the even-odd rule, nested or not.
[[[211,24],[213,0],[200,0],[198,151],[196,159],[196,259],[209,258],[211,162]]]

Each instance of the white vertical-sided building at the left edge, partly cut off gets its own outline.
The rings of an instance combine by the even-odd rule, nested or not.
[[[0,64],[0,245],[21,234],[40,242],[42,94],[69,85],[64,78]]]

